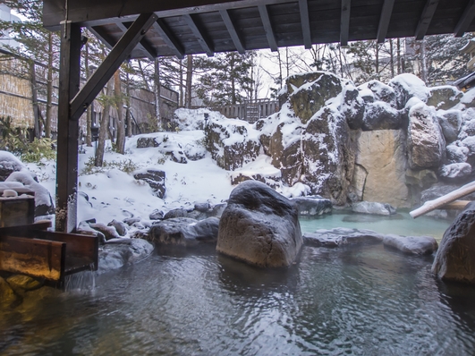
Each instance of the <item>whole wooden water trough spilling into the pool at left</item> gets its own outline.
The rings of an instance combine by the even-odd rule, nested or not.
[[[33,224],[34,199],[20,198],[0,199],[0,271],[62,286],[66,275],[98,269],[96,236],[48,231],[50,221]]]

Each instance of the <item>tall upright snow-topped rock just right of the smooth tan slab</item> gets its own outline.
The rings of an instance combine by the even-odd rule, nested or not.
[[[438,167],[445,153],[445,140],[433,108],[423,103],[409,112],[408,154],[412,169]]]

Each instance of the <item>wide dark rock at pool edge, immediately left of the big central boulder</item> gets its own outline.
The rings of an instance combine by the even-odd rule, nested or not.
[[[175,217],[159,222],[150,228],[152,242],[166,245],[194,246],[199,243],[216,243],[219,219],[208,217],[195,220],[189,217]]]

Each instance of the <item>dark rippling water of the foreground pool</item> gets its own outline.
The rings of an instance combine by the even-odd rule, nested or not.
[[[475,288],[382,245],[304,247],[290,268],[157,250],[86,292],[0,314],[5,355],[472,355]]]

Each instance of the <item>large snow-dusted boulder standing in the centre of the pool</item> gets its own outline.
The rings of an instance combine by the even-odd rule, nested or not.
[[[216,250],[259,267],[288,267],[301,250],[298,209],[256,181],[238,185],[221,216]]]

